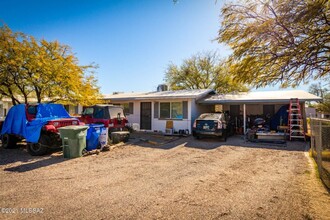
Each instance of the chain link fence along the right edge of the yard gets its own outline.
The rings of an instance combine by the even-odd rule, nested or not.
[[[330,120],[311,118],[311,150],[320,177],[330,189]]]

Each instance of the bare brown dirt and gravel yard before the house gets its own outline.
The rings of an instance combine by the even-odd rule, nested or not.
[[[305,149],[146,134],[78,159],[0,148],[0,219],[330,219]]]

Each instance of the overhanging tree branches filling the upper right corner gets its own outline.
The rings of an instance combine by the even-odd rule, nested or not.
[[[254,86],[295,87],[329,75],[328,0],[238,0],[222,8],[218,41],[230,73]]]

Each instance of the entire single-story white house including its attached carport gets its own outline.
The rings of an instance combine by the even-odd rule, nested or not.
[[[191,132],[194,120],[201,113],[222,111],[229,114],[239,133],[245,132],[257,117],[272,118],[283,106],[288,106],[292,98],[299,99],[303,116],[306,101],[321,100],[301,90],[220,95],[210,89],[200,89],[104,96],[107,103],[124,106],[129,122],[138,124],[140,130],[164,132],[166,122],[171,120],[175,130]],[[285,125],[287,121],[281,123]]]

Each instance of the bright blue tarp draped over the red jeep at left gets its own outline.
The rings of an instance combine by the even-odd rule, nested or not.
[[[38,104],[36,118],[30,122],[26,119],[25,104],[10,108],[2,126],[1,135],[16,134],[22,136],[27,142],[37,143],[41,128],[49,120],[71,118],[61,104]]]

